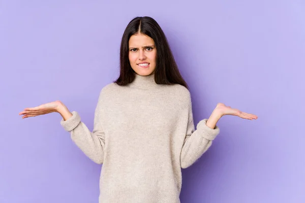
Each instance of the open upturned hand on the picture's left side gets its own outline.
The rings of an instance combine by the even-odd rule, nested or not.
[[[22,119],[44,115],[52,112],[58,112],[58,109],[62,106],[64,106],[64,104],[61,101],[56,100],[47,104],[42,104],[37,107],[25,108],[22,112],[19,113],[19,115],[23,115]]]

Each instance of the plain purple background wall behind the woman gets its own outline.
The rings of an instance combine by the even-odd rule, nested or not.
[[[18,113],[59,99],[92,130],[123,31],[145,15],[190,85],[195,124],[218,102],[259,117],[221,118],[212,147],[182,170],[181,202],[305,202],[304,1],[109,2],[0,3],[0,202],[98,202],[101,165],[62,117]]]

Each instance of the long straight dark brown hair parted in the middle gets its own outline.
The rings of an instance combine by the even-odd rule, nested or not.
[[[142,33],[154,40],[157,49],[155,82],[157,84],[180,84],[188,88],[179,73],[178,66],[170,50],[167,38],[160,25],[151,17],[136,17],[127,25],[120,45],[120,75],[114,83],[124,86],[135,79],[135,72],[129,62],[129,39]]]

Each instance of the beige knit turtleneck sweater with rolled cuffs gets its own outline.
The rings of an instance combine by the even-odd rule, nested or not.
[[[76,111],[60,124],[102,164],[99,203],[179,203],[181,168],[192,165],[220,131],[206,121],[195,130],[187,88],[136,74],[127,86],[102,88],[92,131]]]

